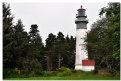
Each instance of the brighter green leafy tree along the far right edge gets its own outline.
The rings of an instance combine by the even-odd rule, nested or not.
[[[109,3],[108,7],[104,8],[104,13],[106,13],[109,21],[109,28],[105,37],[106,43],[109,44],[108,48],[111,48],[108,57],[109,67],[110,71],[116,71],[120,70],[120,3]]]

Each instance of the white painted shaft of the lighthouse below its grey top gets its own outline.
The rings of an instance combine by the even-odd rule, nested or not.
[[[84,38],[86,37],[86,29],[76,30],[76,60],[75,70],[82,70],[82,60],[88,59],[87,50],[85,48]]]

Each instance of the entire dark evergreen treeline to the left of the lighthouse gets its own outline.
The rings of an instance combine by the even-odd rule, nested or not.
[[[19,19],[13,24],[14,16],[10,5],[3,3],[3,76],[11,72],[41,73],[59,67],[74,68],[75,37],[50,33],[45,45],[39,34],[37,24],[32,24],[30,31],[24,30]],[[41,23],[41,22],[40,22]]]

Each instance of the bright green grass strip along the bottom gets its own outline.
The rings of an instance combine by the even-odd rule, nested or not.
[[[49,76],[6,78],[5,80],[120,80],[120,75],[101,75],[93,72],[57,72]]]

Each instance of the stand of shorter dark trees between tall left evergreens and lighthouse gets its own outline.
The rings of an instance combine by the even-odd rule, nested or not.
[[[57,36],[50,33],[46,39],[45,50],[49,71],[61,66],[74,68],[75,39],[73,36],[64,38],[62,32]]]

